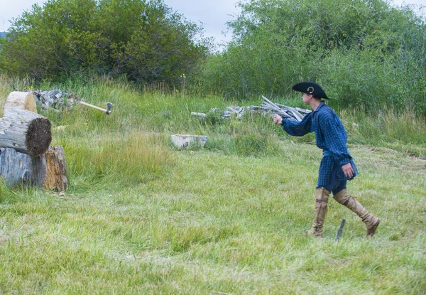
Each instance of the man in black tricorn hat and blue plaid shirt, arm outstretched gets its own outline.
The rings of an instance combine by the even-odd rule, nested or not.
[[[322,87],[314,82],[301,82],[293,90],[302,92],[303,103],[309,104],[313,112],[306,114],[302,122],[283,119],[278,114],[273,117],[275,124],[280,124],[285,132],[292,136],[303,136],[315,132],[317,146],[322,149],[318,185],[315,190],[315,217],[312,228],[306,235],[322,237],[322,225],[330,192],[334,200],[345,205],[358,215],[367,227],[367,237],[372,237],[380,220],[374,217],[356,198],[346,193],[346,181],[357,174],[355,163],[346,146],[347,135],[337,114],[322,98],[329,100]]]

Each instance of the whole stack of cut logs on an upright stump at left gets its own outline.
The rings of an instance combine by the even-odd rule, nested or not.
[[[62,146],[50,146],[50,121],[37,114],[28,92],[11,92],[0,118],[0,177],[9,186],[68,187]]]

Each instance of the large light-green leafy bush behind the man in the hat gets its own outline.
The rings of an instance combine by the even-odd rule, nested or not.
[[[283,97],[296,82],[324,86],[334,107],[392,104],[426,114],[426,26],[383,0],[251,0],[229,22],[234,40],[204,65],[226,97]]]

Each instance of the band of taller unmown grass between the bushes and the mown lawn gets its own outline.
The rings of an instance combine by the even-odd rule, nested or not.
[[[13,87],[23,91],[58,88],[75,93],[84,101],[104,106],[113,102],[112,114],[75,103],[70,111],[48,113],[40,110],[53,123],[53,144],[65,147],[67,166],[73,183],[104,183],[116,179],[122,183],[138,183],[162,175],[173,164],[170,157],[170,134],[207,135],[204,149],[235,156],[283,156],[286,151],[279,139],[295,144],[315,143],[313,134],[295,138],[273,124],[271,114],[247,112],[242,119],[222,118],[230,105],[258,105],[259,100],[244,103],[217,96],[192,96],[167,92],[162,85],[141,87],[124,78],[80,77],[65,83],[13,80],[0,76],[3,97]],[[4,100],[0,100],[1,103]],[[285,97],[276,102],[303,107],[300,98]],[[190,112],[204,112],[200,119]],[[371,116],[363,109],[339,110],[349,134],[349,144],[368,144],[404,151],[415,156],[426,155],[425,119],[407,109],[381,109]],[[124,177],[126,176],[126,177]]]

